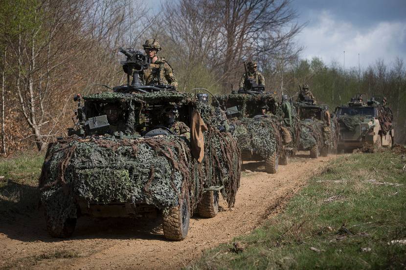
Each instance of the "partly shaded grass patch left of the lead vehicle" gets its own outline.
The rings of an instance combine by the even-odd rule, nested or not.
[[[43,153],[21,153],[0,159],[0,214],[3,220],[25,214],[38,205],[38,177],[44,163]]]

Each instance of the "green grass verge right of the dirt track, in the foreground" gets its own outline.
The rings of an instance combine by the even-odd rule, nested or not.
[[[406,239],[405,164],[392,152],[339,157],[283,213],[187,269],[405,269],[406,245],[388,245]]]

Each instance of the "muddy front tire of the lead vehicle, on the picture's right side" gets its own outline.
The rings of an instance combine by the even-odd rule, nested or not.
[[[163,215],[163,236],[168,240],[185,239],[190,223],[190,197],[187,189],[183,190],[179,205],[169,209]]]

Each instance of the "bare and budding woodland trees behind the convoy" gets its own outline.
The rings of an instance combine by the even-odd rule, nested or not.
[[[362,69],[303,60],[297,16],[289,0],[168,1],[156,14],[140,0],[0,0],[0,152],[41,150],[67,135],[73,95],[123,84],[118,47],[142,49],[148,38],[160,41],[181,91],[229,93],[244,61],[256,60],[268,91],[294,96],[306,83],[331,111],[356,93],[385,96],[405,144],[404,60]]]

